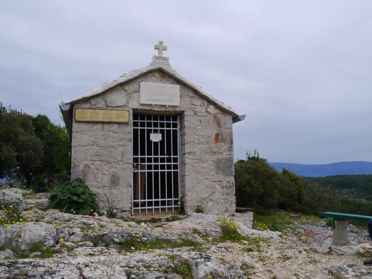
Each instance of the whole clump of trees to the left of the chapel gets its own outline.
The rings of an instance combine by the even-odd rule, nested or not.
[[[35,117],[0,102],[0,178],[18,178],[44,187],[54,173],[70,170],[67,131],[46,115]]]

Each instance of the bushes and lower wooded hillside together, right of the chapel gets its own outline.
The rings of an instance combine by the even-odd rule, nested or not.
[[[372,216],[372,174],[305,177],[275,167],[255,150],[235,164],[236,201],[261,215],[273,210]]]

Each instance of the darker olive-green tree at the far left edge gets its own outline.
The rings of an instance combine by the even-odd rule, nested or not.
[[[0,177],[24,178],[31,185],[43,160],[43,144],[36,136],[32,116],[5,108],[0,102]]]

